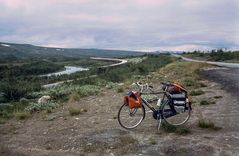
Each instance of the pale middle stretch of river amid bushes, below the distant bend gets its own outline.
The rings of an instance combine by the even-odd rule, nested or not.
[[[75,66],[65,66],[65,70],[63,70],[63,71],[55,72],[55,73],[49,73],[49,74],[42,75],[42,76],[50,77],[50,76],[59,76],[59,75],[64,75],[64,74],[70,75],[70,74],[73,74],[73,73],[78,72],[78,71],[86,71],[86,70],[89,70],[89,68],[75,67]]]

